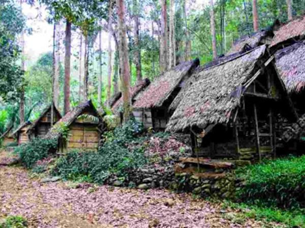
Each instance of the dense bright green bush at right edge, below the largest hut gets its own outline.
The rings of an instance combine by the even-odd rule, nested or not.
[[[236,170],[245,180],[242,201],[281,208],[302,208],[305,202],[305,156],[266,161]]]

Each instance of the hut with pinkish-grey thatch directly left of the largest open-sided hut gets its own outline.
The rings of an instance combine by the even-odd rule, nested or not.
[[[171,115],[169,105],[198,65],[199,59],[182,62],[161,74],[136,96],[133,104],[136,120],[142,122],[145,128],[165,129]]]

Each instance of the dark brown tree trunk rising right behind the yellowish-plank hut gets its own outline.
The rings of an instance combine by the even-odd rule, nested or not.
[[[64,114],[70,111],[70,59],[71,59],[71,22],[67,20],[66,35],[65,35]]]

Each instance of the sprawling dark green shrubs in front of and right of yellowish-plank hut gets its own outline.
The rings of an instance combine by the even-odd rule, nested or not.
[[[140,129],[138,123],[129,121],[116,128],[113,134],[107,134],[105,143],[98,153],[71,151],[59,158],[52,174],[72,180],[86,177],[87,181],[99,184],[104,183],[111,174],[124,179],[128,170],[146,163],[143,149],[129,149],[126,146],[141,132]]]

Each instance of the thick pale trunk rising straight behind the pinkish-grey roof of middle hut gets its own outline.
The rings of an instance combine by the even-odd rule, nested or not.
[[[167,48],[167,13],[166,0],[160,0],[161,4],[161,39],[160,39],[160,72],[168,69],[168,48]]]

